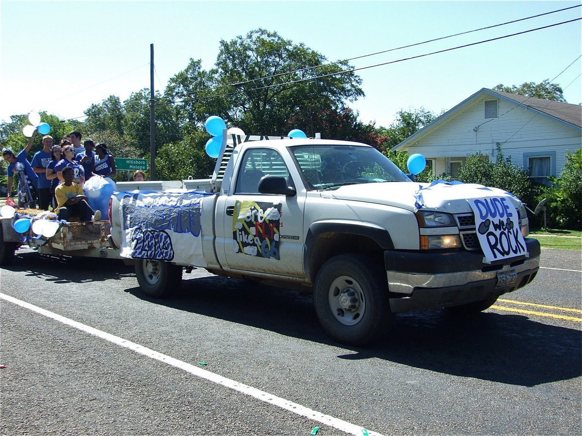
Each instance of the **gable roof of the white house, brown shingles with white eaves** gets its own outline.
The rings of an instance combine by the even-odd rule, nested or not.
[[[475,92],[475,94],[471,95],[469,98],[464,99],[454,108],[443,113],[443,115],[432,121],[432,123],[427,124],[413,135],[410,135],[408,138],[400,142],[400,144],[394,146],[392,149],[396,150],[402,148],[405,145],[411,144],[413,141],[416,141],[418,137],[424,135],[433,127],[442,124],[455,113],[457,113],[464,105],[476,98],[481,97],[483,94],[491,95],[491,97],[501,98],[505,101],[516,103],[517,105],[523,105],[531,112],[549,117],[558,121],[559,123],[567,124],[570,127],[576,128],[577,130],[582,130],[582,106],[580,105],[572,105],[570,103],[526,97],[524,95],[511,94],[510,92],[501,92],[490,90],[488,88],[482,88],[481,90]]]

